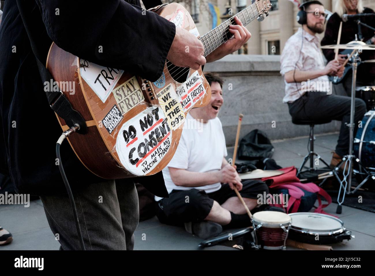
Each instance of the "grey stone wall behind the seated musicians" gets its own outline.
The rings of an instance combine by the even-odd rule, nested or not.
[[[227,146],[234,145],[239,113],[244,115],[240,138],[255,128],[265,131],[270,139],[309,134],[309,126],[291,122],[288,105],[282,103],[285,84],[280,74],[280,56],[229,55],[205,65],[204,72],[208,71],[217,72],[225,81],[219,118]],[[341,122],[332,121],[315,126],[314,131],[334,132],[340,125]]]

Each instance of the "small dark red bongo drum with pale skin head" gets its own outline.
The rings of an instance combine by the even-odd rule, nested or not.
[[[285,249],[291,217],[275,211],[261,211],[253,215],[255,241],[263,249]]]

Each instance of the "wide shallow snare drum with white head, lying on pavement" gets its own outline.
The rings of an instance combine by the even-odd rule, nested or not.
[[[351,238],[351,232],[344,227],[344,222],[336,217],[317,213],[291,213],[289,216],[292,218],[288,237],[291,240],[329,244]]]

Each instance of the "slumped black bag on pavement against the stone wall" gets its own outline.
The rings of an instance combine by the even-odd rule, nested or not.
[[[255,129],[241,139],[238,158],[244,160],[271,158],[274,151],[275,148],[266,133]]]

